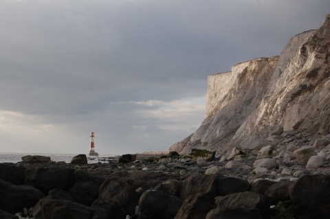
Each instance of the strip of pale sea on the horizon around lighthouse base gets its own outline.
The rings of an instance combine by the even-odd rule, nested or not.
[[[65,163],[70,163],[72,157],[77,154],[21,154],[21,153],[0,153],[0,163],[17,163],[22,161],[22,157],[27,155],[41,155],[50,157],[51,161],[64,161]],[[104,154],[99,155],[99,157],[89,157],[87,156],[87,163],[107,163],[111,160],[118,159],[118,155],[115,154]]]

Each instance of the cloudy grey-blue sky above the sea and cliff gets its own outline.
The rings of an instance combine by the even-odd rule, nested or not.
[[[281,54],[329,0],[0,0],[0,152],[166,151],[207,77]]]

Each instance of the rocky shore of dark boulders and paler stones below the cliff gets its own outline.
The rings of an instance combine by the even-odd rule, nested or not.
[[[330,135],[272,139],[221,157],[0,163],[0,218],[330,218]]]

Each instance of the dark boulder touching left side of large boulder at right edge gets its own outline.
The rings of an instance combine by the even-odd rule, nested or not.
[[[271,185],[266,191],[265,196],[270,199],[271,205],[276,205],[279,201],[290,200],[289,185],[292,181],[283,181]]]

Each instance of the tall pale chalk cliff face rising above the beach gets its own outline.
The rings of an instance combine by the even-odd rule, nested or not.
[[[257,58],[208,77],[206,119],[170,150],[218,154],[245,139],[267,139],[270,128],[330,132],[330,15],[318,30],[294,36],[281,56]]]

